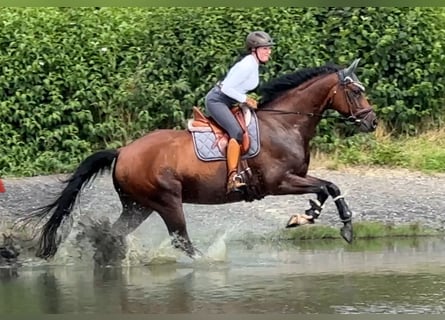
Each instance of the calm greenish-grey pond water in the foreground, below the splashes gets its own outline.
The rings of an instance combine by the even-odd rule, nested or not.
[[[443,240],[417,240],[414,246],[384,240],[373,242],[369,251],[360,245],[337,242],[332,247],[331,242],[302,249],[230,243],[225,262],[184,260],[125,268],[28,266],[15,276],[0,269],[0,310],[443,313]]]

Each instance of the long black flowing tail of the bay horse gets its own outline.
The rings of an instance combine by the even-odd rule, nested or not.
[[[58,246],[56,243],[57,229],[63,219],[71,213],[80,191],[86,183],[93,181],[97,174],[110,170],[117,156],[117,150],[104,150],[90,155],[65,181],[67,186],[60,196],[53,203],[37,209],[32,214],[32,217],[42,219],[55,209],[49,220],[43,225],[43,232],[38,241],[37,257],[48,259],[56,254]]]

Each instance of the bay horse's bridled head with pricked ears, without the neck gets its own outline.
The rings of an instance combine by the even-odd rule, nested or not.
[[[372,132],[377,127],[377,116],[365,96],[365,87],[355,74],[359,61],[356,59],[337,72],[339,81],[330,92],[328,106],[357,125],[360,131]]]

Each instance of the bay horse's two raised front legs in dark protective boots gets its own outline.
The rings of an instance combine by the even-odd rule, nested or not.
[[[344,197],[341,195],[340,189],[334,183],[312,176],[300,177],[289,174],[283,180],[281,189],[291,194],[317,194],[317,202],[312,200],[312,202],[310,202],[311,208],[305,211],[306,216],[309,216],[309,219],[312,217],[312,220],[320,215],[323,204],[330,195],[334,199],[340,219],[344,224],[341,229],[341,235],[347,242],[352,241],[352,212]],[[294,222],[298,221],[298,217],[297,219],[295,219],[295,217],[297,216],[291,217],[287,227],[298,225],[298,223]]]

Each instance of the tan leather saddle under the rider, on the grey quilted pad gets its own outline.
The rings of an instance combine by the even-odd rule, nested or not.
[[[250,147],[250,138],[247,126],[251,120],[251,111],[246,106],[236,106],[232,108],[231,111],[243,129],[243,141],[241,143],[241,155],[243,155],[249,151]],[[216,137],[215,144],[223,154],[226,154],[229,135],[216,123],[215,120],[213,120],[212,117],[205,116],[198,107],[193,107],[193,118],[188,121],[187,127],[191,132],[213,132]]]

